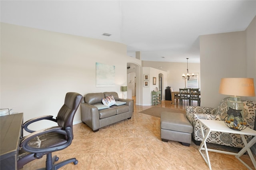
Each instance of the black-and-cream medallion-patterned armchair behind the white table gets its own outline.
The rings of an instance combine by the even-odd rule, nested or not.
[[[192,136],[197,145],[202,141],[202,130],[198,119],[210,119],[224,121],[228,111],[228,101],[229,97],[222,99],[218,108],[211,107],[200,107],[200,106],[187,106],[186,116],[193,126]],[[244,103],[244,120],[246,121],[248,127],[255,129],[255,115],[256,115],[256,101],[242,101]],[[204,127],[204,134],[208,129]],[[252,136],[246,136],[247,142],[249,142]],[[226,146],[233,146],[237,148],[243,148],[244,143],[242,142],[241,136],[239,134],[224,133],[224,132],[211,132],[208,139],[208,143],[221,144]]]

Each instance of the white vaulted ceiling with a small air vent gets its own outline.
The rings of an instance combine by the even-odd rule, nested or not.
[[[199,36],[244,31],[256,0],[1,0],[0,9],[1,22],[124,43],[141,60],[200,63]]]

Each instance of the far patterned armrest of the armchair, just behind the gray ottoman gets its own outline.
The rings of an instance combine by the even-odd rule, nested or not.
[[[200,107],[200,106],[187,106],[186,115],[202,113],[207,115],[214,115],[217,108],[213,107]]]

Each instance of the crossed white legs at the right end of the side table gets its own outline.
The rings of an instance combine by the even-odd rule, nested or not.
[[[242,134],[240,134],[240,135],[241,135],[241,138],[242,138],[242,140],[244,142],[244,148],[242,148],[242,150],[240,150],[240,152],[238,152],[238,154],[236,155],[236,158],[238,160],[240,160],[240,162],[242,162],[248,169],[252,170],[252,168],[250,168],[244,161],[242,161],[240,159],[240,156],[242,156],[244,154],[244,152],[247,151],[249,156],[250,156],[250,158],[251,158],[251,160],[252,160],[252,164],[254,165],[254,168],[256,169],[256,161],[254,159],[252,151],[250,150],[250,147],[252,147],[252,145],[254,145],[256,143],[256,137],[254,136],[254,138],[252,138],[252,140],[250,140],[250,142],[247,143],[244,135],[242,135]]]

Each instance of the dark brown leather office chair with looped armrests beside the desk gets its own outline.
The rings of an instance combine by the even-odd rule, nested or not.
[[[20,142],[17,167],[21,169],[25,164],[35,159],[42,158],[46,154],[46,170],[58,169],[70,162],[78,163],[76,158],[71,158],[54,164],[58,157],[52,157],[52,152],[67,148],[73,140],[73,119],[82,101],[82,95],[74,92],[66,93],[64,105],[61,107],[56,119],[53,116],[42,116],[30,119],[23,124],[23,128],[30,132]],[[34,131],[28,129],[28,125],[40,120],[50,120],[58,124],[56,127]]]

